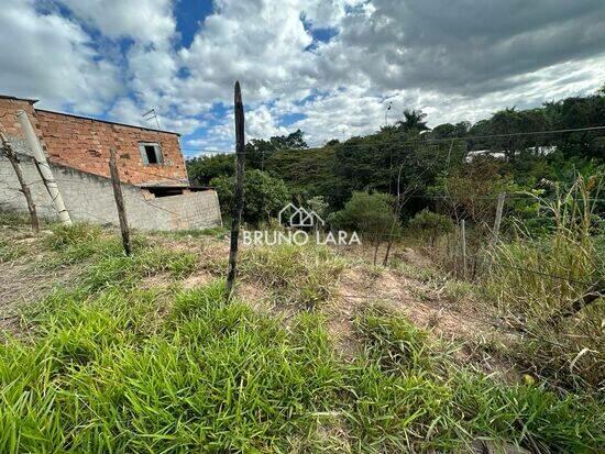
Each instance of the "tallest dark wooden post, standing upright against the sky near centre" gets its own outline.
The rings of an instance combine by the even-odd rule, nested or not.
[[[231,299],[238,274],[238,240],[244,199],[244,106],[240,82],[235,82],[235,188],[233,190],[233,211],[231,219],[231,245],[229,248],[229,273],[227,275],[227,299]]]

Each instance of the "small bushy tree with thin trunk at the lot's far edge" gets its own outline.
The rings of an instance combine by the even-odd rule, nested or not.
[[[381,192],[353,192],[341,211],[328,218],[330,225],[359,232],[364,241],[374,246],[374,265],[381,243],[389,235],[400,233],[400,223],[393,210],[394,198]],[[396,229],[393,229],[393,225]]]

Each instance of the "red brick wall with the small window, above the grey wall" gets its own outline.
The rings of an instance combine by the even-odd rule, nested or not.
[[[143,130],[36,110],[48,160],[109,176],[109,148],[118,151],[120,179],[133,185],[187,184],[187,169],[176,134]],[[144,165],[140,142],[158,143],[163,164]]]

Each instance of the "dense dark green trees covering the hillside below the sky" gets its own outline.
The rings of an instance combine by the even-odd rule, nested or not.
[[[603,130],[564,132],[605,125],[604,89],[535,109],[505,109],[475,124],[461,121],[428,130],[426,121],[421,111],[405,111],[402,121],[375,134],[319,148],[307,148],[300,131],[253,140],[246,145],[246,166],[283,179],[299,203],[323,197],[331,211],[341,209],[353,191],[406,193],[400,212],[406,222],[425,208],[438,209],[436,197],[487,198],[499,190],[553,196],[553,182],[570,186],[578,171],[592,175],[604,163]],[[471,159],[473,151],[483,151],[483,159]],[[209,184],[231,176],[232,163],[233,155],[196,158],[188,170]]]

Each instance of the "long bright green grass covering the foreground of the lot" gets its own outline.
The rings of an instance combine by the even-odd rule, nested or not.
[[[81,226],[46,241],[82,266],[81,279],[28,307],[29,336],[0,343],[0,452],[448,452],[481,438],[587,453],[605,443],[602,398],[461,368],[448,344],[381,307],[356,313],[361,348],[342,358],[320,311],[346,265],[329,250],[244,250],[244,279],[305,309],[286,324],[226,302],[221,280],[182,288],[204,266],[193,253],[140,244],[125,257],[116,237]],[[155,274],[173,284],[141,288]]]

